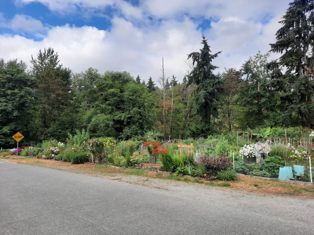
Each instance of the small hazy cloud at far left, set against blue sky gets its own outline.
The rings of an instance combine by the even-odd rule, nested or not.
[[[28,15],[15,15],[11,20],[7,20],[0,15],[0,27],[12,29],[18,33],[40,33],[46,31],[40,20]]]

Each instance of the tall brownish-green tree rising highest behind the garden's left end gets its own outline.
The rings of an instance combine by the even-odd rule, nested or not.
[[[48,133],[48,128],[70,105],[71,70],[59,64],[58,53],[50,47],[43,52],[40,50],[37,59],[32,56],[30,62],[40,102],[38,135],[41,138],[55,137]]]

